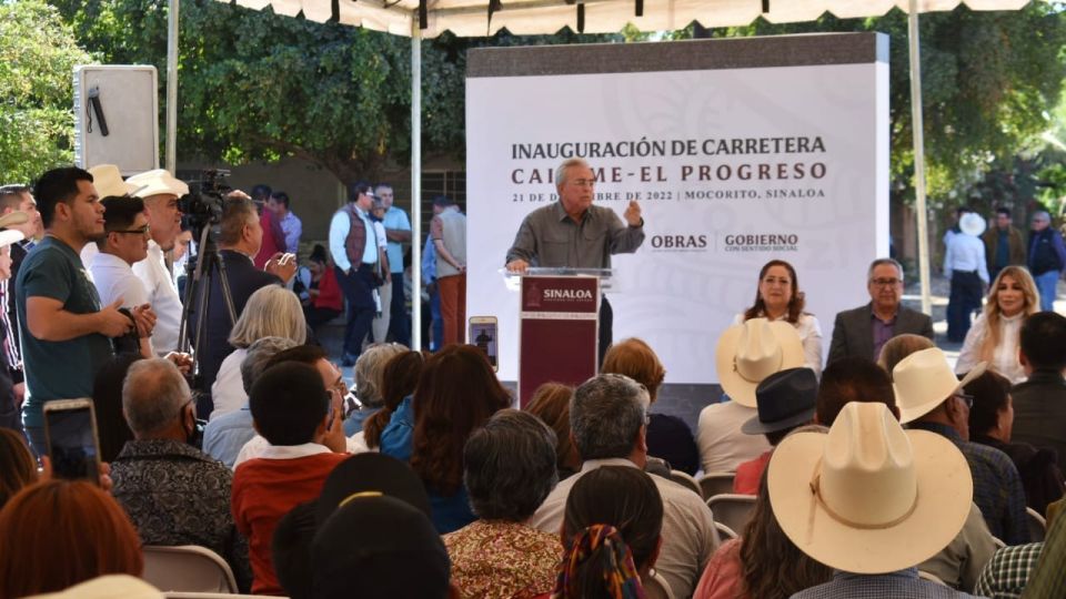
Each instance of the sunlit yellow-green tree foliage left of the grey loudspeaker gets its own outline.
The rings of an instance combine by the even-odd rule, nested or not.
[[[59,11],[40,0],[0,2],[0,173],[28,183],[73,160],[71,78],[90,62]]]

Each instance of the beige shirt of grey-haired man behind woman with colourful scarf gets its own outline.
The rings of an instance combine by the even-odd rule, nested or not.
[[[586,460],[580,473],[555,486],[527,524],[545,532],[559,535],[570,489],[579,478],[601,466],[636,468],[635,464],[624,458]],[[663,545],[655,561],[655,570],[666,579],[674,597],[691,597],[707,560],[720,544],[711,508],[691,489],[673,480],[648,476],[663,498]]]

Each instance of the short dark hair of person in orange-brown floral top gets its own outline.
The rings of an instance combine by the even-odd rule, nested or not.
[[[522,522],[559,481],[555,433],[527,412],[502,409],[466,440],[463,481],[483,520]]]

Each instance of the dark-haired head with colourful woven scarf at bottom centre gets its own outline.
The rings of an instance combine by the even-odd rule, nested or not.
[[[574,484],[553,598],[644,596],[642,580],[655,566],[664,532],[663,500],[653,479],[636,468],[603,466]]]

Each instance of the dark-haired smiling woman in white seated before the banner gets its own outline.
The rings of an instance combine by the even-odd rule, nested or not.
[[[743,324],[752,318],[785,321],[796,327],[803,342],[803,356],[807,368],[822,377],[822,325],[813,315],[803,311],[806,297],[800,291],[796,270],[783,260],[772,260],[758,272],[755,303],[743,314],[737,314],[733,324]]]

